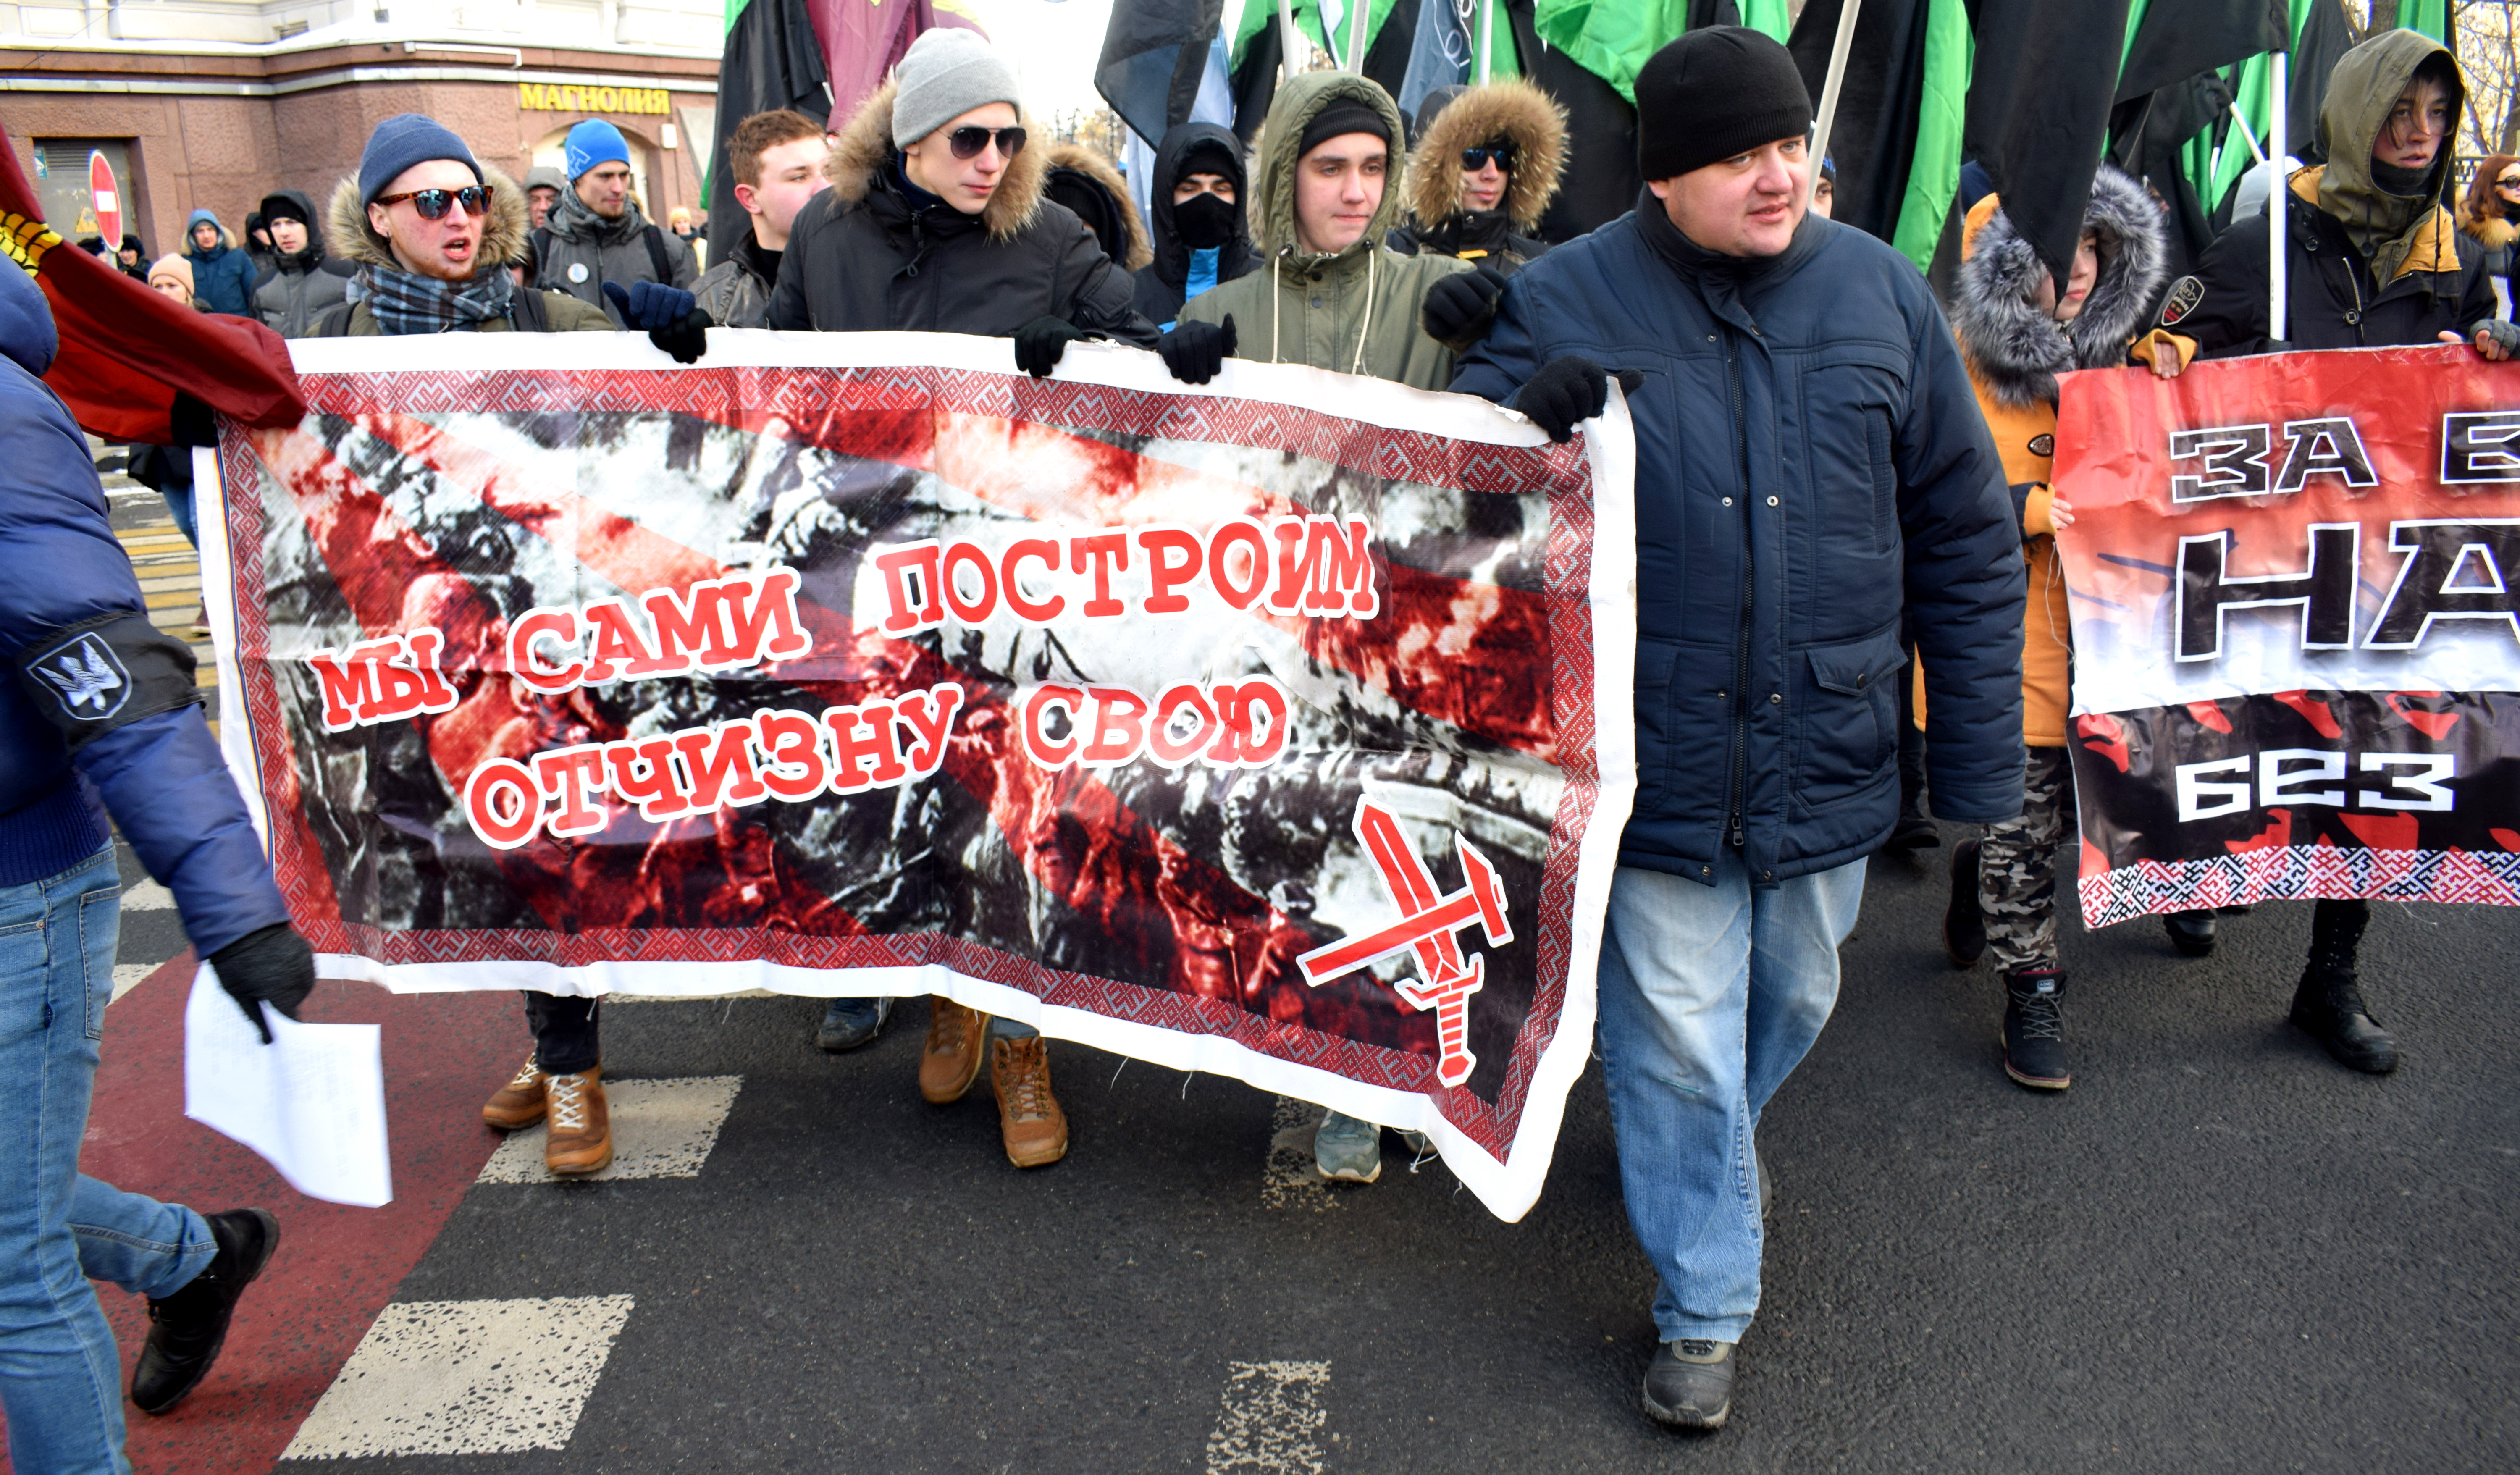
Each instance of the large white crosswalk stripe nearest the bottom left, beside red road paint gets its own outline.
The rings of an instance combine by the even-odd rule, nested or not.
[[[386,1306],[282,1460],[567,1450],[630,1296]]]

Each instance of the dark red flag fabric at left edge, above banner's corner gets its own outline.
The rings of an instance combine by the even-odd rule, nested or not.
[[[247,426],[295,426],[307,414],[287,343],[262,323],[194,313],[83,250],[55,250],[35,187],[0,129],[0,252],[53,305],[60,353],[45,383],[81,429],[108,441],[174,441],[176,391]]]

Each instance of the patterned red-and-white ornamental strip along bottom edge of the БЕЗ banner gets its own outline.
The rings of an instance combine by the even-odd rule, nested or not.
[[[2076,880],[2089,928],[2185,908],[2374,898],[2520,905],[2520,855],[2265,845],[2205,860],[2139,860]]]

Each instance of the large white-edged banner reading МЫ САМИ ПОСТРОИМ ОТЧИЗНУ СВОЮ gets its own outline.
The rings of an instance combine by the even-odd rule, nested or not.
[[[1535,1200],[1633,797],[1623,411],[937,335],[292,348],[204,560],[325,973],[945,993]]]

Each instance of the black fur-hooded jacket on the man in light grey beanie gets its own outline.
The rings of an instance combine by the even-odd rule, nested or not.
[[[1016,154],[980,214],[915,209],[895,156],[887,83],[832,144],[822,166],[832,189],[796,212],[771,328],[1011,338],[1036,318],[1066,318],[1154,348],[1154,323],[1129,305],[1129,272],[1074,212],[1041,197],[1048,149]]]

